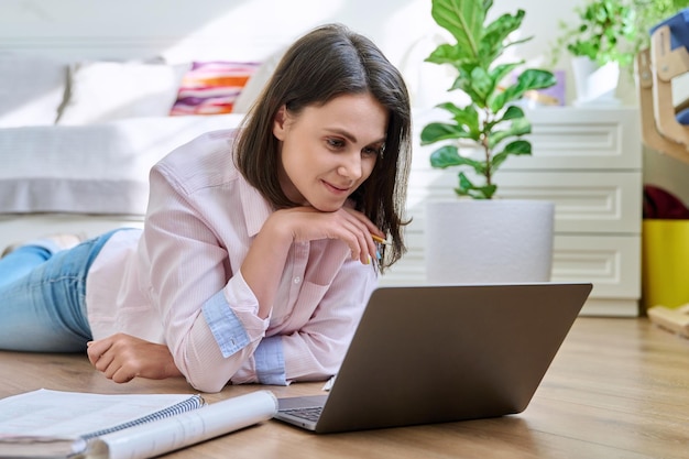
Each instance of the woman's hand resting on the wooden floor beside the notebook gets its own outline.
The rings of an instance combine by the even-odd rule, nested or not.
[[[151,380],[181,376],[165,345],[156,345],[131,335],[117,334],[88,343],[88,360],[106,378],[117,383],[136,376]]]

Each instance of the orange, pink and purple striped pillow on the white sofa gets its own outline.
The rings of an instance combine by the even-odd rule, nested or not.
[[[234,100],[259,66],[260,63],[253,62],[194,62],[182,80],[169,114],[232,112]]]

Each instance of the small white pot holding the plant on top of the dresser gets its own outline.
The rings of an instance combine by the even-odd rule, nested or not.
[[[573,105],[581,106],[619,106],[615,97],[620,81],[620,65],[610,62],[603,66],[586,56],[571,59],[577,100]]]

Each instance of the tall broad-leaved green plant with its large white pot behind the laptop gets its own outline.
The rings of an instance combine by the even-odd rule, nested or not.
[[[550,72],[527,68],[510,80],[523,62],[501,63],[500,58],[505,48],[525,41],[510,40],[525,12],[490,22],[492,4],[492,0],[431,1],[435,22],[456,42],[441,44],[426,61],[453,67],[458,76],[448,90],[461,90],[470,100],[464,107],[439,105],[451,120],[430,122],[420,133],[423,145],[442,142],[430,153],[430,164],[458,167],[455,193],[466,198],[427,201],[426,273],[431,282],[546,281],[550,276],[553,203],[495,199],[494,175],[510,156],[532,153],[531,142],[523,138],[531,133],[531,123],[515,102],[527,91],[555,85],[556,78]],[[460,152],[466,142],[470,146]],[[523,215],[525,206],[537,215]]]

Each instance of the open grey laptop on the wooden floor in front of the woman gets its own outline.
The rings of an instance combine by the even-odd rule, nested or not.
[[[327,395],[280,398],[315,433],[523,412],[589,283],[380,287]]]

